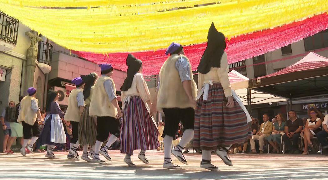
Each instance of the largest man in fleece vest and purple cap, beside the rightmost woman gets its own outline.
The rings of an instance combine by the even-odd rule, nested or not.
[[[164,138],[164,163],[165,169],[180,169],[172,163],[172,140],[178,130],[181,121],[185,131],[180,143],[172,150],[172,154],[183,164],[187,164],[182,154],[184,146],[194,136],[196,83],[189,59],[184,56],[183,47],[178,43],[172,43],[166,55],[171,56],[165,61],[159,72],[158,95],[155,98],[151,112],[157,110],[165,114]]]

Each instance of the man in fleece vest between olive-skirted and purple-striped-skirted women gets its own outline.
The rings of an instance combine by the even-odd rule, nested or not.
[[[120,122],[118,118],[121,117],[121,109],[117,103],[115,84],[111,78],[113,74],[112,65],[101,64],[99,66],[101,77],[94,84],[89,115],[97,116],[97,141],[92,162],[104,164],[105,161],[99,159],[99,153],[107,160],[112,161],[107,151],[120,136]],[[112,135],[106,145],[100,150],[102,143],[107,140],[109,133]]]

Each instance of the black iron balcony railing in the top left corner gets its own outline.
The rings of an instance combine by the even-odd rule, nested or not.
[[[0,11],[0,39],[17,44],[19,21]]]

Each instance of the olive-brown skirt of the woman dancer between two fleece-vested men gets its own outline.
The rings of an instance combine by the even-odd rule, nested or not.
[[[97,137],[97,117],[90,117],[90,105],[84,107],[81,119],[79,122],[79,143],[81,146],[89,144],[90,146],[96,143]]]

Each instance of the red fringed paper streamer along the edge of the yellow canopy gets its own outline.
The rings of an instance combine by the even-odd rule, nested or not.
[[[327,22],[328,14],[323,13],[282,27],[233,37],[227,41],[226,52],[228,54],[228,63],[235,63],[277,50],[312,36],[322,30],[328,29]],[[193,70],[197,69],[206,45],[207,43],[202,43],[184,47],[184,52],[190,59]],[[161,66],[167,59],[165,51],[133,52],[133,55],[142,60],[143,73],[145,75],[154,75],[158,74]],[[82,51],[73,51],[73,53],[96,64],[111,63],[117,70],[127,70],[126,57],[128,53],[96,54]]]

